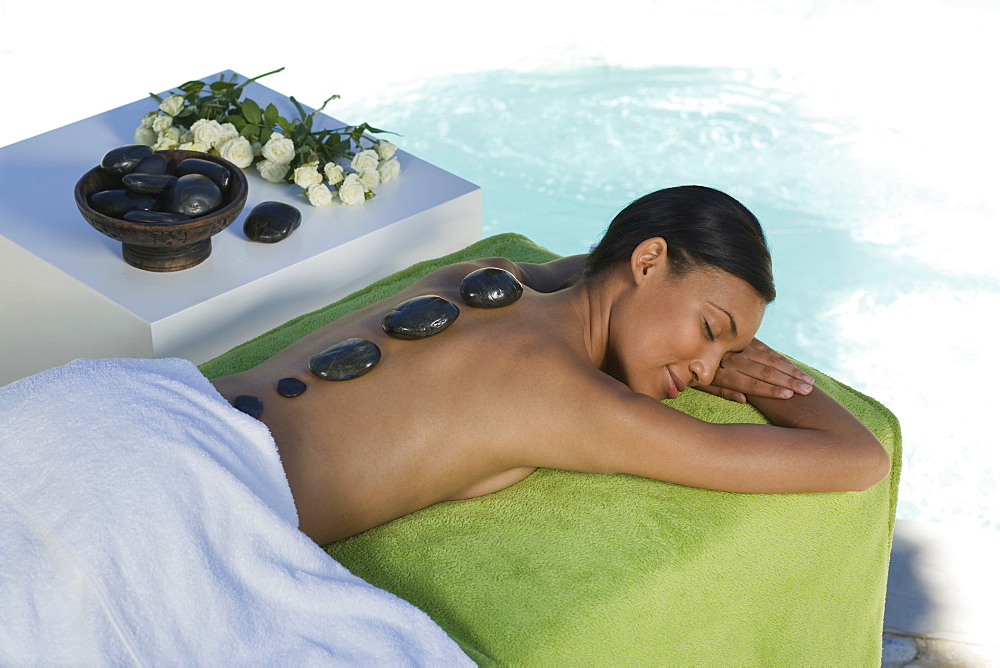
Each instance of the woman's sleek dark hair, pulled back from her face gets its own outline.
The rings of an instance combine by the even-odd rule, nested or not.
[[[584,276],[629,261],[639,244],[654,237],[666,240],[672,273],[715,267],[749,283],[766,303],[774,301],[771,253],[757,217],[704,186],[658,190],[622,209],[587,258]]]

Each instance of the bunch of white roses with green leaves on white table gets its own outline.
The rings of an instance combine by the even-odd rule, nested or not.
[[[142,118],[135,142],[156,150],[213,153],[241,169],[254,165],[267,181],[302,188],[313,206],[326,206],[334,197],[348,206],[364,204],[375,196],[376,186],[399,176],[396,147],[366,134],[385,130],[367,123],[334,130],[313,128],[316,114],[339,95],[330,96],[311,113],[289,98],[299,112],[291,120],[273,104],[262,109],[243,97],[248,83],[283,69],[240,84],[235,76],[210,84],[188,81],[178,87],[179,93],[166,98],[150,93],[159,107]]]

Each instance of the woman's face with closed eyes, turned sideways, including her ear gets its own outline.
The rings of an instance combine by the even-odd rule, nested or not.
[[[719,365],[753,340],[765,306],[748,283],[721,270],[666,271],[640,276],[622,300],[606,369],[657,400],[711,384]]]

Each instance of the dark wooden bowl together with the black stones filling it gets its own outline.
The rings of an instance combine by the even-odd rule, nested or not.
[[[198,151],[111,149],[76,184],[76,205],[98,232],[122,242],[122,256],[146,271],[179,271],[205,261],[212,236],[247,201],[239,167]]]

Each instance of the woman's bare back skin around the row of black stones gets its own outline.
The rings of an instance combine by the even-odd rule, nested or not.
[[[300,528],[317,542],[508,487],[534,470],[523,459],[525,438],[558,437],[552,395],[572,395],[567,384],[593,371],[582,334],[567,328],[568,306],[559,295],[526,289],[511,306],[466,306],[459,285],[478,266],[437,271],[247,372],[213,381],[230,401],[242,394],[263,400],[260,419],[277,443]],[[385,314],[424,294],[459,306],[458,319],[426,339],[387,336]],[[351,337],[381,349],[372,371],[349,381],[309,372],[313,355]],[[308,389],[295,398],[279,395],[275,385],[285,377]]]

